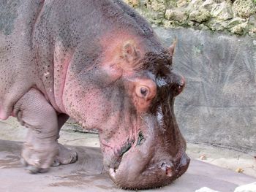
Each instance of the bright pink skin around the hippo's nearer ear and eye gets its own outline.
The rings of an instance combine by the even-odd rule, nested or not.
[[[157,86],[152,80],[135,80],[132,77],[135,74],[135,69],[140,66],[137,61],[140,61],[144,54],[143,47],[140,47],[141,40],[125,31],[115,31],[115,38],[112,36],[111,33],[106,34],[100,41],[103,50],[105,50],[102,57],[102,67],[113,80],[123,77],[131,81],[128,88],[129,96],[133,98],[135,107],[139,112],[146,112],[151,99],[157,93]],[[140,93],[141,89],[146,90],[145,95]]]

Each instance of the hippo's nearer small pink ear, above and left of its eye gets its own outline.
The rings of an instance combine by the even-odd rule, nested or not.
[[[121,55],[127,61],[127,63],[132,63],[140,58],[140,51],[137,50],[135,45],[130,41],[124,42],[121,51]]]

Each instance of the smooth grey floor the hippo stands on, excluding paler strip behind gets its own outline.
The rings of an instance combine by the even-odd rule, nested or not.
[[[78,162],[51,167],[45,174],[28,174],[20,165],[21,142],[0,140],[0,191],[123,191],[103,171],[102,154],[95,147],[70,147],[78,152]],[[233,192],[255,177],[238,174],[201,161],[192,160],[188,171],[170,185],[148,191],[194,192],[208,187]]]

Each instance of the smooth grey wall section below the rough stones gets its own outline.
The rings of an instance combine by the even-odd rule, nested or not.
[[[188,28],[155,28],[166,45],[178,39],[174,70],[187,80],[177,97],[188,142],[256,150],[256,40]]]

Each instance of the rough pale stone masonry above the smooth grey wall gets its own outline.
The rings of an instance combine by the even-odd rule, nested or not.
[[[256,37],[256,0],[124,0],[149,22]]]

